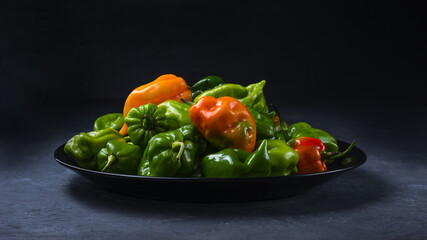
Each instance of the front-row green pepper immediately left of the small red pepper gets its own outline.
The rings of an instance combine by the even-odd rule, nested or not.
[[[271,176],[288,176],[297,173],[298,153],[282,140],[267,140],[271,159]]]

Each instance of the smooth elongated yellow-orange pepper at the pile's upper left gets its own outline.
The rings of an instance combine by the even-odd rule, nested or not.
[[[191,90],[183,78],[173,74],[165,74],[156,80],[135,88],[127,97],[123,108],[123,117],[134,108],[147,103],[159,105],[166,100],[181,101],[180,99],[192,100]],[[120,133],[127,135],[127,125],[124,124]]]

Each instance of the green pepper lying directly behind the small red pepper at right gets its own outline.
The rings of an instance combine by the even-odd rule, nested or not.
[[[308,123],[297,122],[289,126],[288,139],[291,140],[297,137],[317,138],[325,145],[326,152],[339,151],[337,140],[331,134],[321,129],[312,128]]]

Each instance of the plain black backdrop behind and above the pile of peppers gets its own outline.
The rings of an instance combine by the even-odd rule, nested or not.
[[[2,107],[11,99],[123,101],[166,73],[189,84],[210,74],[242,84],[266,79],[275,103],[425,98],[424,8],[403,1],[0,6]]]

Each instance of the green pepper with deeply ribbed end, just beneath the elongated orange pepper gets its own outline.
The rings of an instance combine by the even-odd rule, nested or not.
[[[187,104],[173,100],[165,101],[158,106],[147,103],[132,108],[125,117],[128,135],[133,144],[145,149],[148,141],[157,133],[190,124],[189,110]]]

